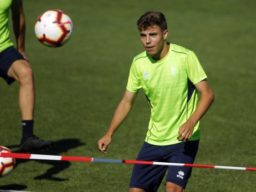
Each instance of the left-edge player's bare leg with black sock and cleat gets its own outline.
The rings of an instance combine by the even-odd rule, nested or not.
[[[49,148],[53,145],[52,141],[43,141],[33,133],[35,85],[29,63],[26,60],[15,61],[8,70],[8,76],[20,83],[19,105],[23,124],[21,150],[30,152]]]

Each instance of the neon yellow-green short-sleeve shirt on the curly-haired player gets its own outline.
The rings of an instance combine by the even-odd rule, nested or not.
[[[179,45],[170,44],[168,54],[159,61],[146,51],[134,57],[126,89],[138,92],[142,88],[151,107],[146,142],[179,142],[179,127],[193,114],[199,101],[194,85],[206,78],[195,53]],[[190,141],[198,139],[200,122]]]

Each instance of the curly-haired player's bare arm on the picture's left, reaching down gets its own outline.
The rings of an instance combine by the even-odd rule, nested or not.
[[[107,147],[111,142],[111,138],[117,128],[122,124],[125,118],[128,116],[129,112],[133,107],[133,102],[137,96],[138,92],[130,92],[127,89],[123,95],[122,100],[116,108],[113,119],[111,121],[110,127],[107,133],[98,141],[99,150],[102,153],[107,153]]]

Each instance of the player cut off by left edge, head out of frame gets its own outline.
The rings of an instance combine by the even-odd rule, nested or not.
[[[9,38],[9,10],[12,11],[17,50]],[[32,69],[25,52],[25,17],[22,0],[0,0],[0,76],[11,85],[20,83],[19,105],[22,116],[23,135],[21,150],[30,152],[43,150],[53,145],[43,141],[33,133],[35,86]]]

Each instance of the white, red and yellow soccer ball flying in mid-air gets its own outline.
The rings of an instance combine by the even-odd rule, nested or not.
[[[37,39],[48,47],[61,47],[70,39],[73,23],[66,13],[58,9],[41,14],[35,23]]]

